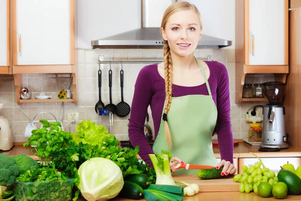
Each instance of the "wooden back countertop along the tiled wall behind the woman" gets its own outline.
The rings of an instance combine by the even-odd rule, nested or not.
[[[15,156],[18,154],[25,154],[27,156],[32,157],[35,160],[39,160],[39,158],[33,153],[30,152],[33,148],[25,148],[22,146],[23,143],[18,143],[15,145],[10,151],[0,151],[0,153]],[[239,142],[239,145],[234,146],[234,154],[233,158],[254,158],[254,156],[250,153],[254,153],[258,155],[260,158],[273,158],[273,157],[301,157],[301,150],[296,148],[289,147],[287,149],[281,149],[277,152],[262,152],[258,151],[259,146],[251,146],[246,142]],[[220,151],[218,147],[213,147],[214,156],[216,158],[220,158]],[[140,157],[137,156],[139,159]]]

